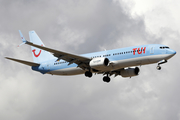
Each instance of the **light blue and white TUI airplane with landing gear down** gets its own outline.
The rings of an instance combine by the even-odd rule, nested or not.
[[[42,74],[78,75],[91,78],[94,74],[103,74],[103,81],[110,82],[110,76],[134,77],[140,72],[142,65],[157,63],[157,70],[176,54],[166,45],[148,44],[113,50],[106,50],[82,55],[45,47],[35,31],[29,31],[27,41],[19,30],[22,44],[31,46],[34,62],[5,57],[28,66]]]

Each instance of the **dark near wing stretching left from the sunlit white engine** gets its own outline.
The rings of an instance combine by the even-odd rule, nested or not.
[[[70,65],[72,63],[76,63],[78,65],[78,67],[81,67],[82,69],[89,67],[88,63],[91,60],[90,58],[83,57],[80,55],[71,54],[71,53],[67,53],[67,52],[62,52],[62,51],[55,50],[52,48],[48,48],[45,46],[40,46],[37,44],[33,44],[32,42],[29,42],[29,41],[26,41],[25,44],[28,44],[30,46],[34,46],[36,48],[51,52],[51,53],[53,53],[53,55],[55,57],[57,57],[57,60],[63,59],[65,61],[69,62],[68,65]]]

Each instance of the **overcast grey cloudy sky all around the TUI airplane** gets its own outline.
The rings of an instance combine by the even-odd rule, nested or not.
[[[180,120],[179,0],[0,0],[0,120]],[[35,30],[44,44],[75,54],[164,44],[177,54],[133,78],[51,76],[4,59],[32,61]]]

